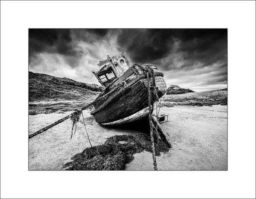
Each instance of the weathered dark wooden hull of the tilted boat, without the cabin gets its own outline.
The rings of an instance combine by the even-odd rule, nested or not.
[[[155,83],[158,98],[166,93],[166,83],[163,74],[155,66]],[[96,122],[104,125],[124,124],[137,121],[148,116],[148,87],[145,69],[133,66],[116,82],[109,85],[92,103],[91,115]],[[149,86],[153,85],[150,77]],[[151,96],[153,102],[155,95]]]

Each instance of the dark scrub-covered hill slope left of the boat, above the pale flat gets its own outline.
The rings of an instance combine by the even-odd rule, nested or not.
[[[69,78],[29,72],[29,101],[84,100],[97,96],[103,88]]]

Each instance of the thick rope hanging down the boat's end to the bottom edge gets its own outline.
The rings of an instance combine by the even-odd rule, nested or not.
[[[149,73],[151,72],[152,79],[153,79],[153,87],[155,91],[155,79],[154,79],[154,70],[151,69],[150,67],[145,67],[146,69],[146,75],[147,75],[147,90],[148,90],[148,119],[149,119],[149,126],[150,126],[150,138],[151,138],[151,148],[152,148],[152,157],[153,157],[153,165],[154,165],[154,170],[157,169],[157,159],[156,159],[156,154],[155,154],[155,148],[154,148],[154,135],[153,135],[153,124],[152,124],[152,110],[154,110],[154,101],[151,99],[151,90],[150,90],[150,84],[149,84]],[[154,92],[153,92],[154,93]],[[158,96],[157,96],[158,99]]]

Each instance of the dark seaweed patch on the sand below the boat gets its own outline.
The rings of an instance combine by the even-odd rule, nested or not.
[[[158,140],[155,145],[156,156],[169,150],[166,143]],[[66,170],[124,170],[125,164],[134,159],[135,153],[146,150],[151,153],[150,136],[141,133],[135,136],[113,136],[105,144],[94,146],[76,154],[64,165]]]

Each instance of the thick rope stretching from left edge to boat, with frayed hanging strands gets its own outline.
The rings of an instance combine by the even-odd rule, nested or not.
[[[48,130],[48,129],[51,128],[51,127],[54,127],[54,126],[57,125],[57,124],[60,124],[61,122],[65,121],[65,120],[68,119],[68,118],[71,118],[71,119],[73,118],[72,121],[73,121],[73,127],[74,127],[74,125],[75,125],[76,122],[77,122],[77,119],[78,119],[78,121],[79,121],[79,116],[80,116],[82,110],[87,109],[88,107],[90,107],[90,105],[91,105],[91,104],[87,104],[87,105],[85,105],[84,107],[82,107],[81,109],[72,112],[70,115],[67,115],[66,117],[61,118],[60,120],[55,121],[54,123],[50,124],[49,126],[44,127],[44,128],[42,128],[42,129],[38,130],[37,132],[30,134],[30,135],[29,135],[29,139],[32,138],[32,137],[34,137],[34,136],[36,136],[36,135],[38,135],[38,134],[40,134],[40,133],[43,133],[44,131]],[[79,116],[78,116],[78,115],[79,115]],[[84,118],[84,117],[83,117],[83,118]],[[72,135],[73,135],[73,127],[72,127],[71,138],[72,138]],[[75,128],[75,132],[76,132],[76,128]],[[86,133],[87,133],[87,131],[86,131]],[[87,134],[87,136],[88,136],[88,134]],[[88,138],[89,138],[89,137],[88,137]],[[89,140],[89,141],[90,141],[90,140]]]

